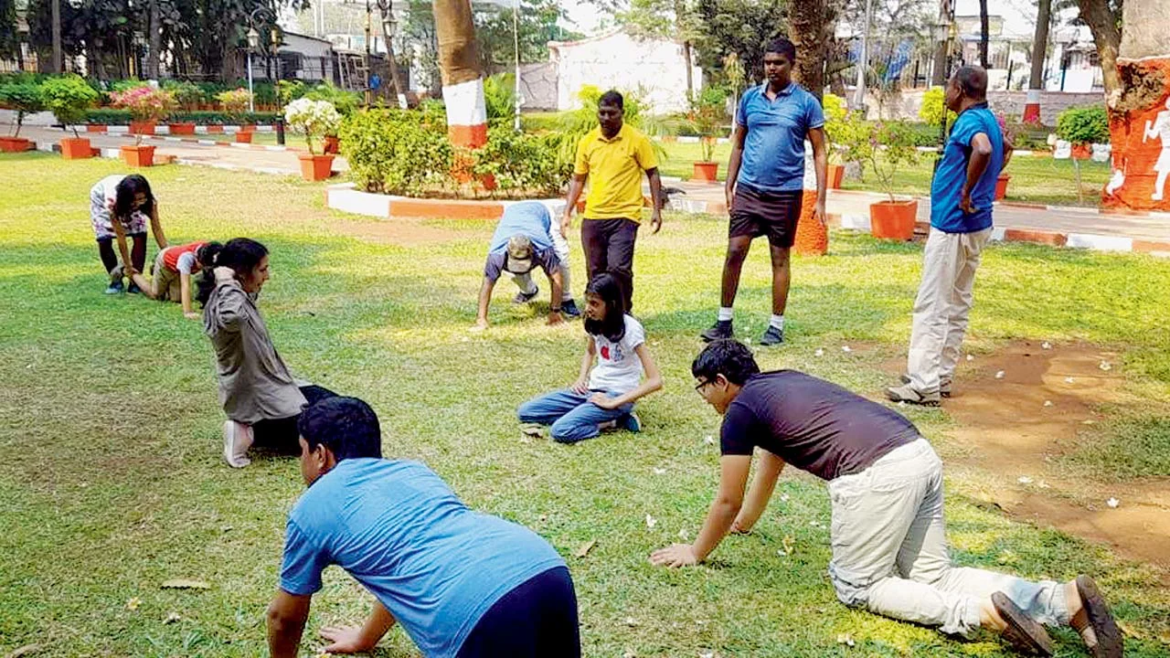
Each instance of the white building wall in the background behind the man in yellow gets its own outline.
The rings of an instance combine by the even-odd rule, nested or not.
[[[603,91],[638,91],[655,114],[687,109],[687,68],[682,46],[672,41],[640,41],[621,32],[571,42],[550,42],[557,63],[557,109],[577,107],[581,85]],[[695,88],[702,70],[691,67]]]

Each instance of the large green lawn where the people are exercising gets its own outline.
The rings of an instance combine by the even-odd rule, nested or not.
[[[176,304],[102,294],[87,194],[118,171],[110,160],[0,156],[0,656],[34,643],[37,657],[262,656],[284,519],[303,486],[298,464],[227,468],[199,324]],[[387,455],[426,461],[468,503],[534,528],[566,556],[587,656],[1007,656],[986,635],[954,642],[838,604],[825,576],[825,487],[798,474],[782,478],[787,499],[773,501],[757,532],[727,540],[709,564],[648,564],[680,532],[695,536],[717,481],[717,450],[704,438],[718,418],[688,368],[717,306],[724,220],[668,214],[661,234],[642,237],[635,306],[666,389],[640,404],[644,433],[566,447],[522,443],[514,413],[576,376],[580,323],[546,328],[543,306],[512,307],[500,286],[494,327],[467,331],[490,225],[398,229],[353,219],[323,210],[322,187],[295,178],[179,166],[146,174],[173,242],[248,235],[269,246],[261,308],[294,371],[369,400]],[[794,259],[790,343],[759,358],[876,395],[888,379],[882,364],[904,355],[921,249],[847,232],[832,240],[831,255]],[[752,338],[768,320],[765,263],[757,246],[737,304],[737,325]],[[1145,417],[1115,410],[1117,431],[1102,440],[1140,440],[1161,454],[1134,472],[1164,471],[1170,309],[1156,292],[1166,289],[1170,269],[1152,258],[997,245],[979,272],[970,349],[1042,337],[1122,351]],[[944,458],[963,450],[944,411],[907,412]],[[1090,573],[1140,636],[1128,656],[1170,651],[1170,592],[1151,567],[1011,521],[977,502],[979,486],[948,481],[959,563],[1061,580]],[[787,537],[794,551],[782,556]],[[572,556],[591,540],[587,557]],[[159,588],[174,577],[212,587]],[[358,622],[369,601],[330,569],[309,632]],[[166,623],[171,614],[179,619]],[[840,633],[856,646],[839,644]],[[1085,656],[1072,633],[1054,637],[1059,656]],[[401,631],[383,646],[377,656],[415,654]]]

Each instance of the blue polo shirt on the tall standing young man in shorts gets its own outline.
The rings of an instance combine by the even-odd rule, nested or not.
[[[810,130],[825,125],[817,97],[794,82],[776,100],[764,94],[768,82],[752,87],[739,100],[736,122],[748,129],[743,162],[736,185],[758,192],[794,192],[804,189],[804,140]]]

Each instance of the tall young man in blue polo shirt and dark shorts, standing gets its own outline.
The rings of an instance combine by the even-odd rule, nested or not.
[[[731,137],[728,163],[727,203],[731,213],[728,254],[723,262],[723,287],[715,325],[702,334],[704,341],[730,338],[731,306],[739,288],[739,272],[752,239],[768,235],[772,249],[772,318],[759,340],[762,345],[784,342],[784,308],[789,302],[789,251],[796,240],[797,220],[804,197],[805,139],[812,143],[817,164],[817,207],[813,217],[825,222],[825,114],[820,102],[792,82],[797,49],[787,39],[777,39],[764,53],[764,76],[759,87],[744,92]]]

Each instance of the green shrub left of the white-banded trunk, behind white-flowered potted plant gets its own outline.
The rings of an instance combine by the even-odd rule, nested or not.
[[[355,180],[369,192],[419,196],[450,180],[446,125],[425,112],[360,110],[342,121],[339,137]]]

